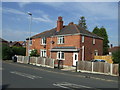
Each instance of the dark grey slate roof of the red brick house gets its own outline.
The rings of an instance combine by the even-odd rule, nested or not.
[[[81,34],[81,35],[86,35],[86,36],[90,36],[90,37],[94,37],[94,38],[103,39],[102,37],[99,37],[96,34],[93,34],[92,32],[85,30],[84,28],[82,28],[76,24],[63,26],[63,28],[59,32],[57,32],[56,29],[57,28],[53,28],[51,30],[39,33],[37,35],[32,36],[31,39],[50,37],[50,36],[55,36],[55,35],[77,34],[77,33]],[[26,40],[28,40],[28,38]]]

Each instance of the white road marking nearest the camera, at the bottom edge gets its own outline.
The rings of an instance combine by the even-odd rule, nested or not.
[[[92,88],[92,87],[88,87],[88,86],[84,86],[84,85],[77,85],[77,84],[68,83],[68,82],[54,83],[53,85],[61,87],[61,88],[68,88],[68,89],[72,89],[72,88]]]

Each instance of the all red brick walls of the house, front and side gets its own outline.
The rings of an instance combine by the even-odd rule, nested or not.
[[[82,36],[80,35],[69,35],[64,36],[64,44],[57,44],[57,37],[49,37],[47,38],[46,47],[41,45],[41,38],[36,38],[32,40],[31,49],[37,49],[38,53],[40,53],[40,49],[47,50],[47,56],[50,57],[50,54],[53,59],[56,59],[57,53],[50,52],[50,49],[53,47],[63,47],[63,46],[75,46],[76,48],[80,48],[78,60],[82,60],[82,46],[85,46],[85,60],[92,60],[94,58],[94,51],[98,50],[98,54],[102,55],[102,45],[103,41],[101,39],[95,39],[95,45],[93,45],[93,38],[85,36],[85,42],[81,43]],[[50,42],[54,41],[54,44]],[[26,55],[27,47],[26,47]],[[73,52],[65,52],[65,60],[64,65],[72,65],[73,63]]]

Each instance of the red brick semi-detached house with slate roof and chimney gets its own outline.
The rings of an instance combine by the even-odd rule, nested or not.
[[[73,22],[64,26],[61,16],[56,28],[32,36],[30,43],[30,50],[37,49],[41,57],[63,60],[64,66],[76,66],[76,61],[92,60],[103,52],[103,38]]]

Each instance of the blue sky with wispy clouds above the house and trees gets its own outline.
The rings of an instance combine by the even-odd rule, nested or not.
[[[21,41],[29,36],[30,17],[33,14],[32,35],[56,27],[58,16],[64,25],[78,24],[81,16],[86,18],[88,30],[104,26],[109,41],[118,45],[118,3],[117,2],[3,2],[2,37],[8,41]]]

